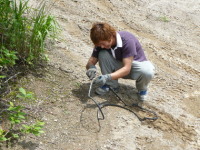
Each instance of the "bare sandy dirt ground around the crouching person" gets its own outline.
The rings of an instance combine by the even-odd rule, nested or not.
[[[200,150],[200,1],[49,0],[53,2],[50,11],[62,32],[48,49],[49,65],[19,81],[38,97],[33,108],[46,123],[45,134],[27,136],[10,149]],[[156,121],[141,122],[129,111],[106,107],[105,119],[98,123],[85,75],[93,47],[89,30],[96,21],[132,32],[155,65],[143,107],[158,114]],[[119,83],[119,95],[134,101],[135,81]],[[92,96],[100,103],[123,105],[113,93]]]

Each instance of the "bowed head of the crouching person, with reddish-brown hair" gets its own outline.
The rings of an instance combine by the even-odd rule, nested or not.
[[[115,42],[116,30],[107,23],[94,23],[90,30],[90,38],[95,46],[109,49]]]

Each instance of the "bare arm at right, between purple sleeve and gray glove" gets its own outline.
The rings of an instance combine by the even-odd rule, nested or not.
[[[128,75],[131,71],[131,66],[133,62],[133,57],[128,57],[123,59],[123,67],[113,73],[111,73],[112,80],[116,80],[118,78],[122,78],[126,75]]]

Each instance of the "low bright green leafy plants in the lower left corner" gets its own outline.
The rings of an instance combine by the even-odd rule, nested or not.
[[[19,89],[20,96],[18,95],[18,98],[26,98],[26,99],[32,99],[32,93],[26,92],[25,89],[20,88]],[[29,95],[30,94],[30,95]],[[23,112],[22,106],[15,106],[13,102],[9,103],[9,107],[6,111],[6,118],[9,123],[8,131],[4,131],[3,129],[0,129],[0,141],[10,141],[12,139],[17,139],[22,135],[22,133],[28,134],[32,133],[36,136],[39,136],[40,134],[44,133],[42,131],[44,127],[44,122],[37,121],[35,124],[30,124],[26,122],[26,116],[27,114]]]

